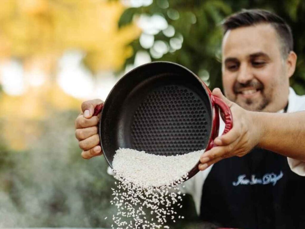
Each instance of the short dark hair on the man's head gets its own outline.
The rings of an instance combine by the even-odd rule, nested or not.
[[[293,50],[293,37],[289,25],[275,13],[262,9],[243,9],[224,20],[222,26],[224,34],[231,29],[257,25],[260,23],[271,24],[278,34],[282,45],[282,56],[287,57],[288,53]]]

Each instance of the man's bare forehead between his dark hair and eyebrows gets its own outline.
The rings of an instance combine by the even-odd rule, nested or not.
[[[258,24],[229,30],[222,41],[223,60],[226,57],[245,58],[263,52],[268,56],[280,55],[280,42],[270,24]]]

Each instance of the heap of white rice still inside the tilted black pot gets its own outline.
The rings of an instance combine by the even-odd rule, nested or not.
[[[148,154],[133,149],[118,149],[113,158],[113,170],[143,188],[161,187],[174,182],[182,183],[185,176],[199,161],[204,150],[176,156]],[[180,181],[180,182],[179,182]]]

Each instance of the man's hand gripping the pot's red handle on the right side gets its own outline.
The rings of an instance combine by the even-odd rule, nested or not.
[[[251,111],[246,111],[239,105],[228,100],[219,88],[213,90],[213,96],[224,100],[230,107],[233,116],[233,128],[226,134],[215,138],[217,145],[200,157],[199,170],[205,170],[210,165],[233,156],[242,157],[255,147],[261,137],[261,127],[255,122]]]

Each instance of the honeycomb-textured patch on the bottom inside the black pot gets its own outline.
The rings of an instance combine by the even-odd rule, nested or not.
[[[208,114],[200,97],[181,85],[155,89],[135,111],[132,147],[147,153],[176,155],[205,147]]]

